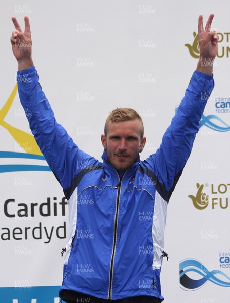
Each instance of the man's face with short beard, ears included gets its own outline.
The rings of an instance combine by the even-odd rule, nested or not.
[[[108,160],[117,171],[133,165],[144,148],[145,141],[145,137],[141,138],[141,122],[138,119],[110,122],[106,137],[101,136]]]

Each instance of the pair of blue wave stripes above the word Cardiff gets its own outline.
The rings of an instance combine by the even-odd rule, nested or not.
[[[45,160],[44,156],[26,153],[16,153],[14,151],[0,151],[0,158],[16,158],[16,159],[36,159]],[[30,165],[30,164],[3,164],[0,165],[0,173],[20,172],[20,171],[51,171],[49,166]]]

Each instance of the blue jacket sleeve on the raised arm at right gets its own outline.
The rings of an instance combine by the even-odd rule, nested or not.
[[[160,147],[143,165],[153,170],[156,184],[169,201],[190,156],[208,97],[214,88],[213,75],[195,71],[179,108],[167,128]],[[156,186],[157,187],[157,186]],[[165,194],[166,193],[166,194]]]

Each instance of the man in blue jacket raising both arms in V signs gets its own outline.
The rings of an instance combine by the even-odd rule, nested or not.
[[[32,133],[69,200],[70,232],[63,249],[60,290],[64,301],[163,300],[160,270],[167,203],[199,130],[205,108],[202,95],[210,95],[214,86],[212,64],[218,36],[210,29],[213,17],[210,15],[204,29],[199,16],[197,70],[156,154],[140,161],[146,142],[141,117],[132,109],[116,109],[101,136],[103,163],[80,150],[57,124],[33,66],[29,19],[25,17],[22,32],[12,18],[20,100]],[[211,64],[203,66],[207,61]],[[85,196],[94,203],[81,203]],[[143,213],[150,214],[149,220],[140,220]],[[140,254],[140,247],[148,247],[148,254]],[[84,265],[89,272],[83,274]]]

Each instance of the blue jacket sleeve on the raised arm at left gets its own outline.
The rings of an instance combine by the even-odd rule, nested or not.
[[[34,138],[65,192],[77,174],[99,162],[80,150],[66,130],[56,122],[38,80],[35,67],[18,71],[19,97]]]

